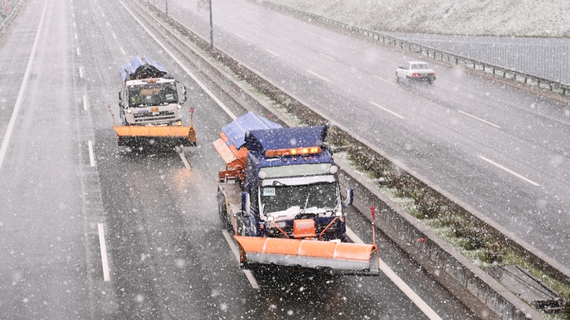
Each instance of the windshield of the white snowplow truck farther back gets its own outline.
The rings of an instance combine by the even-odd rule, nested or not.
[[[129,106],[167,105],[178,102],[176,84],[156,83],[129,87]]]

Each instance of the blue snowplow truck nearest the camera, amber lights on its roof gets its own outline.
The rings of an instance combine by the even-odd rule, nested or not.
[[[222,128],[218,211],[244,268],[378,274],[376,245],[348,243],[353,192],[341,201],[326,137],[325,126],[282,128],[251,112]]]

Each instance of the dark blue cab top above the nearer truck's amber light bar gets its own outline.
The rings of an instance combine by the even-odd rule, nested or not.
[[[251,130],[246,135],[247,150],[264,154],[267,150],[319,147],[327,138],[327,127],[310,126]]]

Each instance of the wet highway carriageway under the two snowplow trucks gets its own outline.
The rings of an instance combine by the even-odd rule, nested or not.
[[[13,23],[0,35],[2,319],[475,318],[382,237],[400,281],[243,272],[218,220],[211,145],[242,106],[121,1],[29,0]],[[133,55],[186,83],[197,147],[117,146],[108,105],[117,113]],[[368,220],[348,216],[353,240],[371,241]]]

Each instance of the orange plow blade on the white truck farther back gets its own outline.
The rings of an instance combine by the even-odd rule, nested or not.
[[[120,146],[196,146],[193,126],[113,126]]]

